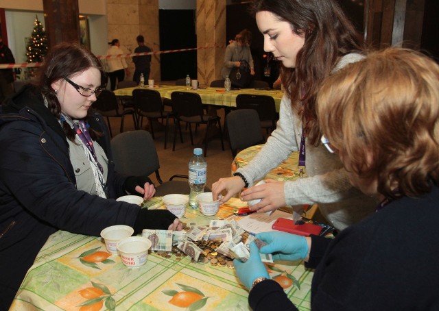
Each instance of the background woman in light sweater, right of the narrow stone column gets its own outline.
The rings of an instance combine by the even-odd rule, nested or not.
[[[252,32],[248,29],[241,30],[235,36],[235,40],[231,41],[226,47],[224,54],[224,66],[222,67],[221,75],[226,79],[230,75],[233,67],[240,67],[241,61],[245,60],[250,65],[250,74],[254,75],[254,64],[252,52],[250,51],[250,44],[252,43]]]

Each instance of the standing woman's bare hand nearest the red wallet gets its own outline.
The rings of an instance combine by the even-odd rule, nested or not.
[[[274,179],[266,179],[265,184],[252,186],[241,192],[242,201],[250,201],[253,199],[262,199],[254,206],[250,206],[250,210],[257,212],[269,212],[285,206],[285,190],[283,182]]]

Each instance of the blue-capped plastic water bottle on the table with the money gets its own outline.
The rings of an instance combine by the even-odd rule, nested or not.
[[[203,157],[203,149],[193,149],[193,157],[189,161],[189,205],[198,208],[197,195],[204,192],[207,177],[207,163]]]

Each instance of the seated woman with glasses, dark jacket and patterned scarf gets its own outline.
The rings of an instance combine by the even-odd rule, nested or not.
[[[58,229],[99,236],[110,225],[182,229],[167,210],[115,198],[150,199],[147,177],[114,171],[110,136],[92,105],[101,92],[99,60],[80,45],[45,57],[36,85],[3,103],[0,114],[0,309],[8,310],[25,273]],[[6,147],[7,146],[7,147]]]

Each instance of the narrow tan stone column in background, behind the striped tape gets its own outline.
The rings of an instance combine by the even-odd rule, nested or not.
[[[221,69],[226,52],[226,0],[197,0],[198,82],[209,86],[222,79]]]

